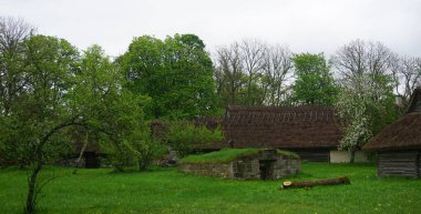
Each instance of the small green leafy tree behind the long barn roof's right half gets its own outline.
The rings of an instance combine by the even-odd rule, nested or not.
[[[299,104],[332,105],[338,86],[322,53],[301,53],[294,57],[296,81],[292,100]]]

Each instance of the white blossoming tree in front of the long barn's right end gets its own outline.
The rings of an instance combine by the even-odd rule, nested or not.
[[[358,75],[352,84],[345,84],[341,89],[336,103],[338,114],[345,121],[339,150],[350,152],[351,163],[356,151],[394,120],[392,88],[387,82],[374,85],[369,77]]]

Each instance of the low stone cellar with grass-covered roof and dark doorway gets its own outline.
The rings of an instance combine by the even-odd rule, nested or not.
[[[179,161],[183,172],[233,180],[277,180],[301,171],[297,154],[264,149],[226,149]]]

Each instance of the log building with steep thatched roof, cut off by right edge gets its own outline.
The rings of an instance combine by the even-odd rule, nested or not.
[[[377,151],[378,176],[421,177],[421,88],[414,90],[407,113],[363,150]]]

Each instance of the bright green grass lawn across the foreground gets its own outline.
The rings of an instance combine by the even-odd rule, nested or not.
[[[420,213],[421,181],[378,179],[369,165],[304,163],[292,181],[348,175],[350,185],[279,191],[280,181],[230,181],[176,169],[114,173],[54,167],[41,213]],[[0,170],[0,213],[20,213],[25,171]]]

